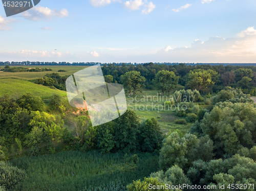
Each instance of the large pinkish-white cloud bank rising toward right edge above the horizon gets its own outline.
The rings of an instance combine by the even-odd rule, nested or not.
[[[210,37],[205,42],[196,39],[190,47],[164,47],[148,59],[170,62],[255,62],[256,30],[249,27],[232,38]]]

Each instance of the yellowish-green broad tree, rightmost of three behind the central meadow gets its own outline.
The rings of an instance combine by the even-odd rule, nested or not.
[[[198,89],[199,91],[207,91],[211,85],[214,85],[213,75],[217,75],[216,71],[211,69],[194,69],[189,71],[187,78],[187,86],[192,89]]]

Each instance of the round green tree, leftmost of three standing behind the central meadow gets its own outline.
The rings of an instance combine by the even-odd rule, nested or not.
[[[121,82],[129,92],[133,90],[133,96],[137,90],[139,90],[145,82],[145,78],[140,75],[139,71],[128,71],[121,76]]]

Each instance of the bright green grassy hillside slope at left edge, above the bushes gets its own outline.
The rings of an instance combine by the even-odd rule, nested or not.
[[[59,94],[61,97],[67,97],[66,91],[51,89],[49,87],[34,84],[26,80],[12,78],[0,79],[0,97],[4,96],[5,94],[9,94],[10,96],[21,96],[25,93],[32,93],[35,96],[41,97],[41,99],[48,99],[54,93]]]

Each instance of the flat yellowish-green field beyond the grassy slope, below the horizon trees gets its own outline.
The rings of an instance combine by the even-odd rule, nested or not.
[[[81,69],[84,69],[89,66],[10,66],[10,67],[26,67],[26,68],[51,68],[52,71],[24,71],[24,72],[0,72],[0,79],[1,78],[16,78],[16,79],[23,79],[23,80],[35,80],[36,78],[42,78],[46,74],[50,73],[59,73],[60,76],[68,76],[76,73]],[[59,69],[66,70],[65,72],[58,72]]]

